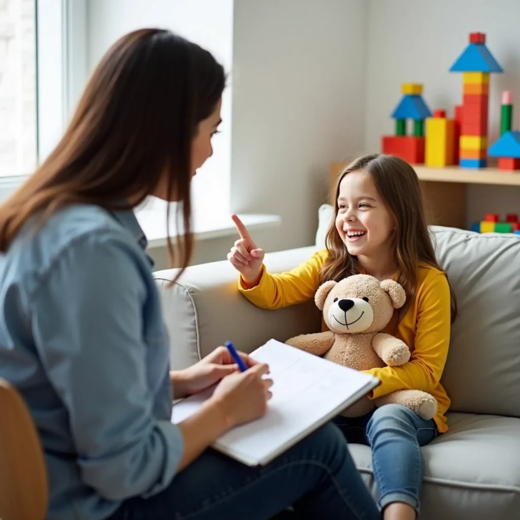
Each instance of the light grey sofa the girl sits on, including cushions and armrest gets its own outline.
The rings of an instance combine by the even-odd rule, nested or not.
[[[421,518],[520,519],[520,237],[431,230],[459,317],[442,380],[452,400],[449,432],[422,448]],[[265,263],[282,272],[320,245],[268,254]],[[174,270],[155,273],[173,367],[196,362],[228,339],[250,352],[271,337],[319,331],[313,302],[276,311],[251,305],[226,261],[190,267],[168,288],[174,276]],[[350,450],[376,497],[370,449],[353,444]]]

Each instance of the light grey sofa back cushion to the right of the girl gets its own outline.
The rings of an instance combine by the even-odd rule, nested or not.
[[[520,417],[520,236],[431,230],[459,306],[441,380],[450,410]]]

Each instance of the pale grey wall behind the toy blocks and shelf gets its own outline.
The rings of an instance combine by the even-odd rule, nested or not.
[[[394,132],[390,117],[400,84],[424,83],[428,106],[447,109],[462,101],[461,73],[448,72],[467,45],[470,32],[486,33],[486,45],[504,68],[492,74],[489,121],[491,141],[498,136],[502,90],[513,91],[513,125],[520,127],[520,2],[518,0],[370,0],[366,148],[380,151],[381,135]],[[520,188],[470,185],[468,223],[484,213],[520,213]]]

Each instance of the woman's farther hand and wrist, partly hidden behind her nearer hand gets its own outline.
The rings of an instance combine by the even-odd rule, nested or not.
[[[238,355],[248,368],[258,364],[247,354],[238,352]],[[170,379],[173,385],[173,397],[174,399],[179,399],[201,392],[233,372],[240,372],[238,365],[226,347],[218,347],[198,363],[195,363],[195,365],[185,368],[184,370],[174,370],[170,372]]]

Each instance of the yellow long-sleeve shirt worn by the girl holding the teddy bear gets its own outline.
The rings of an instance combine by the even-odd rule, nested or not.
[[[262,267],[256,287],[239,289],[248,300],[264,309],[277,309],[303,303],[314,298],[319,280],[318,271],[327,260],[327,250],[316,252],[307,262],[282,274],[269,274]],[[445,413],[450,399],[439,383],[443,373],[450,340],[450,291],[443,271],[419,263],[419,281],[414,301],[408,307],[397,330],[397,311],[382,332],[393,334],[410,348],[410,360],[401,367],[366,370],[381,380],[369,395],[380,397],[406,388],[432,394],[438,403],[434,420],[441,433],[448,431]]]

